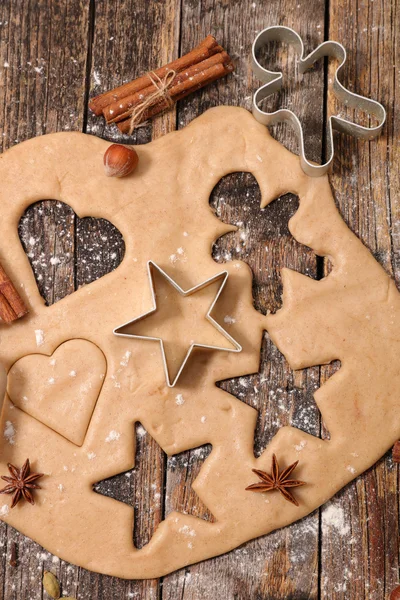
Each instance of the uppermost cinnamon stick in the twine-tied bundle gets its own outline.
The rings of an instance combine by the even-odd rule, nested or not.
[[[154,73],[162,79],[168,73],[168,71],[180,72],[190,67],[191,65],[197,64],[206,58],[209,58],[213,54],[221,52],[222,48],[218,45],[216,39],[212,35],[208,35],[196,48],[194,48],[188,54],[181,56],[180,58],[173,60],[168,63],[164,67],[160,67],[156,69]],[[117,102],[126,96],[131,96],[136,92],[139,92],[143,88],[148,87],[149,78],[147,75],[143,75],[138,79],[125,83],[120,87],[115,88],[114,90],[110,90],[105,94],[101,94],[100,96],[96,96],[92,98],[89,102],[89,108],[95,113],[95,115],[101,115],[103,109],[112,104],[113,102]]]

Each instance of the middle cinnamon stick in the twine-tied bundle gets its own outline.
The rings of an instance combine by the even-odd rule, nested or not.
[[[176,91],[175,88],[177,85],[183,84],[184,82],[187,82],[187,84],[185,83],[184,86],[185,90],[189,90],[192,87],[194,89],[198,89],[198,78],[195,79],[196,75],[201,75],[201,73],[207,71],[207,69],[210,69],[215,65],[227,65],[230,63],[231,59],[228,53],[223,51],[219,52],[218,54],[214,54],[210,58],[196,63],[191,67],[188,67],[187,69],[181,71],[174,77],[172,85],[168,89],[169,97],[171,98],[171,100],[173,100],[174,96],[180,94],[182,90],[179,88],[178,91]],[[107,123],[117,123],[118,121],[123,121],[132,113],[133,108],[135,108],[139,104],[142,104],[149,96],[154,94],[154,84],[151,82],[150,79],[148,79],[148,83],[149,85],[146,88],[140,90],[139,92],[136,92],[131,96],[126,96],[118,102],[113,102],[109,106],[106,106],[103,109],[103,115]],[[165,105],[165,100],[163,98],[161,98],[161,101],[163,101]]]

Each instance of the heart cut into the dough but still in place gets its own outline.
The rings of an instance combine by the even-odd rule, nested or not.
[[[69,340],[52,356],[29,354],[8,374],[12,402],[77,446],[85,439],[107,370],[92,342]]]

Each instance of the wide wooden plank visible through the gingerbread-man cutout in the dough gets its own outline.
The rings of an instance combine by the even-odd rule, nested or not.
[[[324,26],[324,3],[251,2],[250,0],[215,3],[183,1],[181,53],[208,33],[235,57],[234,77],[218,82],[208,90],[187,98],[179,107],[179,127],[210,106],[238,104],[250,108],[255,89],[248,56],[256,32],[273,24],[294,26],[308,47],[321,41]],[[310,43],[311,42],[311,43]],[[269,68],[281,66],[290,77],[294,56],[289,51],[271,55]],[[318,160],[323,129],[323,65],[306,74],[306,91],[300,94],[293,79],[289,80],[283,98],[291,108],[308,107],[307,149]],[[282,98],[274,96],[269,107],[277,107]],[[287,127],[276,128],[277,137],[291,149],[296,142]],[[254,273],[256,307],[262,312],[276,310],[280,304],[279,270],[288,266],[317,276],[317,261],[312,252],[297,244],[289,234],[287,221],[295,211],[296,200],[287,196],[260,212],[257,184],[249,175],[231,175],[223,180],[212,195],[211,205],[218,216],[229,223],[239,223],[240,230],[218,241],[216,260],[241,259]],[[319,369],[293,374],[280,353],[265,337],[259,374],[224,383],[223,388],[259,410],[255,452],[259,454],[277,429],[287,423],[319,433],[319,414],[312,399],[319,385]],[[201,461],[201,457],[199,457]],[[195,478],[198,465],[182,473],[186,485]],[[177,483],[177,474],[167,473],[167,496]],[[196,505],[192,505],[193,511]],[[188,510],[183,503],[181,510]],[[209,598],[290,598],[318,597],[318,514],[272,536],[254,540],[226,556],[194,565],[163,580],[163,598],[198,600]]]

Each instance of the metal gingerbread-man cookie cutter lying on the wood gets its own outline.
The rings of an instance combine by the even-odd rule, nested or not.
[[[257,52],[259,49],[271,41],[281,41],[295,46],[300,58],[298,59],[299,71],[304,73],[307,69],[324,56],[337,58],[340,61],[339,66],[335,71],[333,80],[333,92],[339,100],[346,106],[361,109],[369,115],[373,115],[378,119],[378,125],[375,127],[364,127],[347,119],[343,119],[337,115],[329,117],[327,131],[327,154],[328,159],[322,165],[317,165],[307,160],[304,150],[303,128],[299,118],[289,109],[280,109],[272,113],[265,112],[259,108],[261,100],[277,92],[282,87],[283,74],[279,71],[268,71],[262,67],[257,60]],[[253,96],[253,115],[263,125],[273,125],[280,121],[289,121],[299,138],[300,144],[300,163],[303,171],[311,177],[319,177],[325,175],[332,164],[334,156],[333,129],[342,133],[348,133],[355,137],[371,140],[378,136],[386,121],[386,111],[382,104],[376,100],[359,96],[346,89],[339,81],[339,74],[346,62],[347,54],[344,46],[339,42],[327,41],[320,44],[308,56],[304,56],[304,45],[301,37],[289,27],[267,27],[261,31],[254,40],[252,47],[252,69],[254,74],[261,81],[265,82]]]

